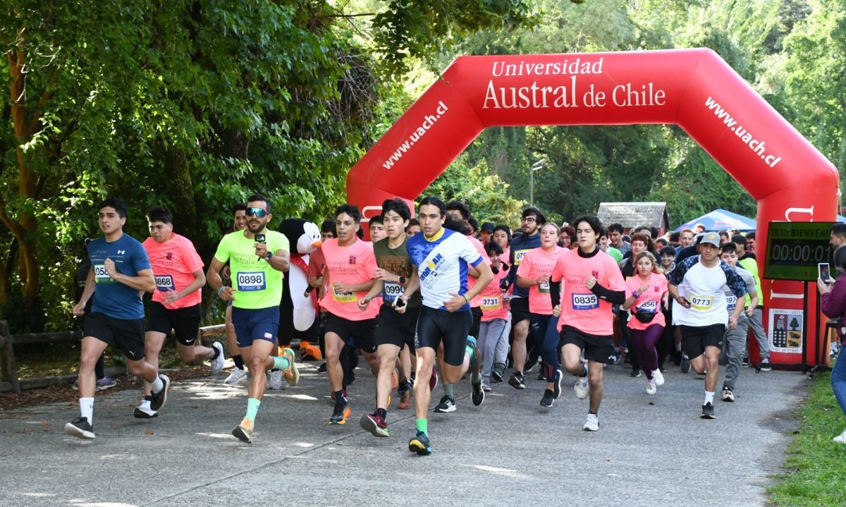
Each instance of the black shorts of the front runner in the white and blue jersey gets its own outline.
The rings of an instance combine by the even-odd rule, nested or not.
[[[436,310],[428,306],[420,308],[417,319],[415,348],[434,349],[443,342],[443,361],[448,365],[461,366],[464,362],[464,349],[467,347],[467,335],[473,325],[470,311]]]

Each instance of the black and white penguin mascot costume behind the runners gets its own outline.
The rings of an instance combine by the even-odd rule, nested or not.
[[[290,244],[291,262],[288,275],[283,278],[282,302],[279,304],[279,346],[289,347],[299,338],[303,357],[321,361],[317,346],[317,295],[309,289],[309,257],[320,248],[320,228],[303,218],[288,218],[279,224]]]

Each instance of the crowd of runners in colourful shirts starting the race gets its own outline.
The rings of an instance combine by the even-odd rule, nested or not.
[[[232,434],[251,442],[265,389],[299,383],[294,350],[279,346],[291,342],[279,336],[290,328],[280,326],[279,308],[291,257],[286,236],[268,229],[271,203],[257,194],[233,208],[232,228],[205,271],[191,241],[173,233],[168,210],[147,213],[151,235],[143,243],[124,234],[121,201],[109,198],[98,210],[103,236],[87,245],[90,268],[74,306],[85,318],[80,416],[65,433],[95,438],[94,393],[105,382],[97,363],[109,345],[145,381],[139,418],[157,417],[166,405],[170,381],[158,372],[158,355],[172,332],[183,361],[211,361],[213,374],[222,371],[222,344],[199,341],[201,289],[208,285],[226,301],[234,367],[225,382],[249,381],[246,411]],[[375,410],[364,411],[361,427],[388,437],[392,398],[398,410],[413,406],[408,448],[419,455],[431,454],[431,396],[440,390],[434,411],[456,411],[454,389],[465,377],[474,405],[493,383],[523,390],[537,372],[546,383],[539,403],[551,409],[572,384],[576,397],[589,398],[583,428],[596,432],[609,365],[628,364],[650,395],[668,366],[692,369],[704,377],[703,419],[715,417],[720,366],[718,398],[736,400],[750,329],[757,367],[772,368],[754,233],[701,227],[661,235],[646,226],[605,226],[592,215],[559,224],[535,207],[523,210],[513,229],[480,225],[464,203],[433,196],[416,213],[406,201],[385,201],[368,226],[371,241],[363,239],[360,210],[338,207],[322,224],[308,267],[325,359],[318,372],[326,373],[334,404],[329,424],[352,417],[347,389],[359,356],[376,376]],[[152,294],[146,306],[144,293]]]

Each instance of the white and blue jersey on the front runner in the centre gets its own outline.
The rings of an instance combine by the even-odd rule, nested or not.
[[[470,240],[450,229],[441,229],[433,238],[415,234],[409,238],[407,248],[420,275],[423,306],[436,310],[447,310],[443,302],[453,298],[450,294],[467,292],[467,265],[476,267],[482,261]],[[470,305],[459,311],[470,311]]]

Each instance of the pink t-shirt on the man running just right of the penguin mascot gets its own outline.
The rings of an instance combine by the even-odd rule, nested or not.
[[[354,292],[352,294],[337,294],[334,289],[335,282],[344,285],[358,285],[369,282],[376,276],[376,256],[373,255],[373,246],[362,240],[356,239],[352,245],[338,245],[338,238],[332,238],[323,242],[321,251],[328,269],[327,294],[320,300],[321,308],[338,317],[350,321],[363,321],[376,318],[379,313],[379,306],[367,306],[367,310],[360,311],[358,301],[367,295],[366,291]]]

